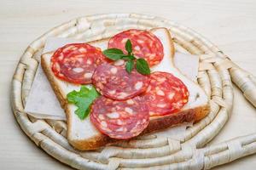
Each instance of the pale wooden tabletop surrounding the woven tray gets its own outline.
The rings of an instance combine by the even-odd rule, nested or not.
[[[238,65],[256,74],[255,0],[0,1],[0,169],[69,169],[20,130],[9,105],[10,81],[26,46],[51,27],[80,15],[141,13],[166,17],[209,38]],[[211,144],[256,132],[256,111],[236,89],[230,121]],[[256,155],[219,169],[253,169]],[[215,168],[215,169],[218,169]]]

